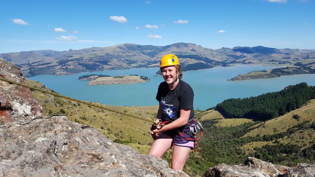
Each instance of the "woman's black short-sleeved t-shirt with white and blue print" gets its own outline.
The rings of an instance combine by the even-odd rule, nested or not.
[[[179,80],[177,86],[173,90],[169,90],[169,85],[164,81],[158,86],[156,99],[160,102],[163,109],[162,121],[173,122],[180,117],[180,109],[191,109],[188,123],[193,123],[195,116],[193,109],[194,92],[192,87],[186,82]],[[186,124],[180,128],[188,128]]]

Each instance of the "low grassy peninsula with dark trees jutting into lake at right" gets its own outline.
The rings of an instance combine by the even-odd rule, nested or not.
[[[315,74],[315,69],[307,66],[287,66],[285,68],[267,69],[262,71],[252,71],[247,74],[241,74],[227,81],[236,80],[251,80],[251,79],[269,79],[276,78],[283,75],[300,75],[300,74]]]

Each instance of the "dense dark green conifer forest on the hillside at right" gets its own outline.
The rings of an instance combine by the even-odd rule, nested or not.
[[[305,82],[257,97],[231,98],[217,104],[216,110],[227,118],[268,120],[300,108],[315,99],[315,87]]]

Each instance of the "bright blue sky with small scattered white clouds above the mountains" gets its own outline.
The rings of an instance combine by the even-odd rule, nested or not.
[[[314,0],[8,0],[1,5],[0,53],[177,42],[211,49],[315,49]]]

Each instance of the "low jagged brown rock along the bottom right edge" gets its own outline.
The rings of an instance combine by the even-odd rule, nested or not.
[[[249,157],[244,165],[220,164],[208,169],[205,177],[314,177],[315,164],[299,163],[295,167],[274,165]]]

